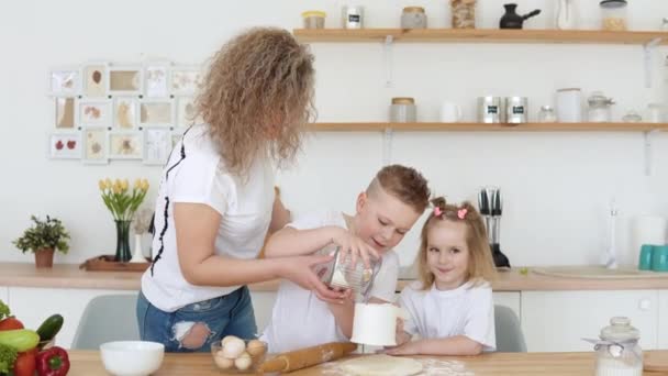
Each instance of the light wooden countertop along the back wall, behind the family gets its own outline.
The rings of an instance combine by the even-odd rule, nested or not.
[[[0,263],[0,286],[138,290],[141,276],[134,272],[86,272],[75,264],[36,269],[31,263]],[[400,280],[398,289],[409,283],[411,280]],[[249,285],[253,291],[275,291],[277,287],[277,280]],[[532,272],[523,275],[519,268],[513,268],[500,272],[492,287],[494,291],[668,289],[668,273],[660,278],[590,279],[550,277]]]

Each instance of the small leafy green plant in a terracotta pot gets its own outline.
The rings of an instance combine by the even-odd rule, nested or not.
[[[34,225],[26,229],[23,235],[12,243],[23,253],[32,251],[35,254],[36,267],[52,267],[56,250],[63,254],[69,251],[67,244],[69,234],[58,219],[46,215],[46,221],[42,221],[31,215],[31,220]]]

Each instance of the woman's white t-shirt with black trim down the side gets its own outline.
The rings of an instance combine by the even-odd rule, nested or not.
[[[215,237],[218,255],[255,258],[271,222],[275,192],[269,161],[258,159],[246,180],[226,173],[207,128],[192,126],[175,146],[156,199],[153,257],[159,258],[152,266],[153,275],[148,268],[142,276],[142,292],[152,305],[167,312],[240,288],[194,286],[186,281],[176,250],[175,202],[203,203],[222,215]]]

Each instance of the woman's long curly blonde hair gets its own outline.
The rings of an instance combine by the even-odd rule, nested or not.
[[[246,176],[256,157],[293,159],[315,117],[314,76],[313,55],[281,29],[252,29],[212,57],[193,118],[209,124],[230,173]]]

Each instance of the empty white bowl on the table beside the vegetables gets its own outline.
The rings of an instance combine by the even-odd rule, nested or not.
[[[165,345],[148,341],[115,341],[100,345],[102,364],[112,375],[146,376],[156,372],[165,356]]]

